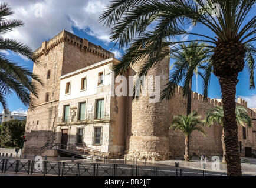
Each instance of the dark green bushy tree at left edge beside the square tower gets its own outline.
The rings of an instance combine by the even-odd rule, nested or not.
[[[21,137],[24,136],[25,125],[25,120],[11,120],[2,123],[0,133],[1,147],[21,147]]]

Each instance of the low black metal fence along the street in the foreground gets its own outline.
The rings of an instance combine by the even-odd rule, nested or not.
[[[227,176],[226,173],[179,167],[134,166],[74,162],[38,162],[0,159],[2,173],[41,174],[42,176]]]

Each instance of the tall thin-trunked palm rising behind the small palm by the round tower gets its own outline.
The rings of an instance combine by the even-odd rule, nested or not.
[[[192,78],[193,75],[200,75],[204,79],[204,84],[208,84],[210,77],[205,77],[201,72],[198,72],[199,68],[204,68],[207,66],[204,63],[209,63],[209,53],[211,48],[205,47],[207,44],[198,42],[191,42],[188,45],[181,44],[180,50],[172,53],[170,58],[175,59],[175,62],[171,66],[174,69],[170,75],[170,83],[175,83],[174,87],[163,90],[162,99],[171,98],[175,92],[176,86],[180,85],[183,79],[185,79],[183,96],[187,97],[187,115],[191,113],[191,91],[192,91]],[[208,73],[209,71],[209,73]],[[211,69],[204,69],[204,72],[211,75]],[[207,87],[205,90],[205,95],[207,96]]]

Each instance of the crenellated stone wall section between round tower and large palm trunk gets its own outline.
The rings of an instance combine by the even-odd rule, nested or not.
[[[203,96],[198,93],[191,93],[192,98],[192,112],[198,112],[198,115],[205,119],[205,113],[209,108],[214,107],[214,100],[208,99],[208,102],[203,102]],[[172,99],[169,100],[170,116],[169,125],[173,120],[173,116],[179,114],[186,114],[186,102],[187,99],[182,97],[182,87],[179,87]],[[218,102],[215,100],[215,104]],[[204,130],[207,136],[203,136],[202,133],[193,132],[191,135],[191,154],[196,155],[220,155],[222,153],[221,135],[222,127],[219,125],[212,125],[211,127],[205,126]],[[185,152],[185,136],[180,130],[174,131],[169,129],[170,139],[170,152],[172,156],[183,156]]]

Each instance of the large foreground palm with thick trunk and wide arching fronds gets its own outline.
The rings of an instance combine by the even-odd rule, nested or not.
[[[179,50],[180,43],[205,42],[211,44],[213,72],[221,85],[224,110],[224,133],[227,173],[241,176],[241,163],[235,118],[235,93],[238,73],[254,67],[256,50],[252,42],[256,16],[256,0],[113,0],[101,15],[106,27],[111,28],[111,39],[119,48],[127,47],[116,75],[123,75],[134,64],[141,65],[139,76]],[[250,14],[251,13],[251,14]],[[187,29],[201,26],[202,28]],[[175,41],[176,36],[196,37]],[[250,89],[254,89],[254,71],[251,69]],[[173,88],[169,83],[168,88]],[[166,88],[166,89],[168,89]],[[205,96],[206,97],[206,96]]]

